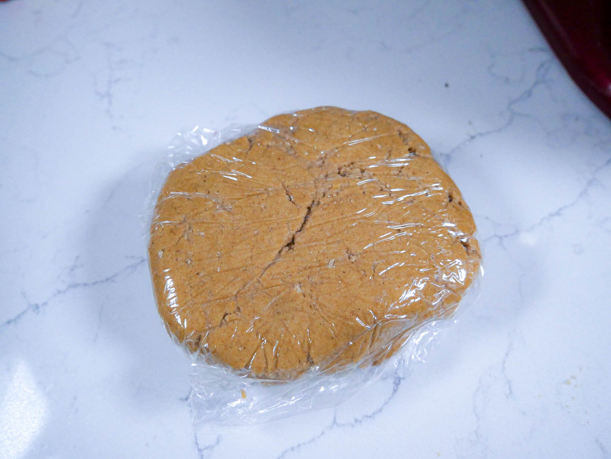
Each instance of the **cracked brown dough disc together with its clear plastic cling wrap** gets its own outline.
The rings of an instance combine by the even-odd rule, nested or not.
[[[196,128],[153,182],[153,289],[196,421],[277,419],[405,372],[480,274],[460,191],[376,112]]]

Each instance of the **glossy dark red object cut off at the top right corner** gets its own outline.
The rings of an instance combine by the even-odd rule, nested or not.
[[[571,78],[611,118],[611,0],[524,0]]]

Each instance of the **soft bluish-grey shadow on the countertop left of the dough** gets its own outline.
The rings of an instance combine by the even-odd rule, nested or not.
[[[98,288],[87,289],[84,310],[97,330],[92,340],[103,342],[94,346],[119,352],[123,365],[109,375],[113,393],[146,413],[175,407],[189,390],[188,358],[161,323],[146,259],[142,215],[154,165],[147,161],[104,188],[82,235],[88,277],[100,279]]]

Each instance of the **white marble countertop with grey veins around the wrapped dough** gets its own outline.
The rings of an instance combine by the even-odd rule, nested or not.
[[[409,378],[194,430],[144,258],[148,177],[180,128],[317,105],[444,156],[480,299]],[[0,457],[609,457],[611,124],[520,2],[10,0],[0,112]]]

